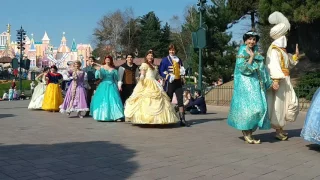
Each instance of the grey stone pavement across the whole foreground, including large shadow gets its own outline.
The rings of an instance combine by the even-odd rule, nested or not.
[[[276,141],[257,131],[245,144],[226,124],[228,107],[188,115],[190,128],[139,127],[27,110],[0,102],[0,180],[320,179],[320,148],[300,137],[305,113]],[[191,120],[192,119],[192,120]]]

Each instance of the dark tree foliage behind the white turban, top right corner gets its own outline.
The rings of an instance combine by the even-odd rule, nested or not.
[[[288,36],[288,51],[294,52],[298,43],[311,61],[320,62],[320,1],[318,0],[260,0],[259,15],[261,28],[265,29],[261,36],[269,37],[270,25],[268,16],[274,11],[282,12],[290,21],[291,29]],[[271,40],[269,40],[270,42]],[[270,44],[269,44],[270,45]],[[264,47],[268,46],[265,44]]]

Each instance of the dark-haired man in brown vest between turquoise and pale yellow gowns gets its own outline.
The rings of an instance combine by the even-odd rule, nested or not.
[[[137,84],[137,78],[139,78],[139,68],[133,63],[132,54],[126,56],[126,62],[119,67],[118,74],[121,100],[125,104]]]

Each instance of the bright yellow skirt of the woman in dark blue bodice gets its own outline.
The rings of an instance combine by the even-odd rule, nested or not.
[[[59,111],[63,103],[61,88],[59,84],[50,83],[44,93],[42,109],[45,111]]]

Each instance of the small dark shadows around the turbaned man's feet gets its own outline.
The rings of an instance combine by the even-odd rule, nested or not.
[[[300,133],[301,133],[301,129],[289,129],[289,130],[285,130],[288,133],[289,139],[288,141],[290,141],[290,138],[292,137],[300,137]],[[258,133],[261,133],[262,131],[259,132],[256,131]],[[280,140],[275,138],[276,133],[275,132],[270,132],[270,133],[264,133],[264,134],[255,134],[253,133],[253,137],[255,139],[260,139],[261,142],[269,142],[269,143],[276,143],[276,142],[281,142]],[[243,137],[239,137],[239,139],[243,139]]]

